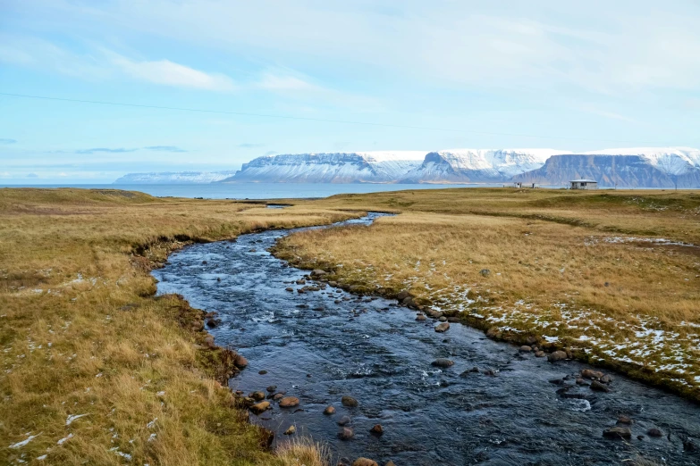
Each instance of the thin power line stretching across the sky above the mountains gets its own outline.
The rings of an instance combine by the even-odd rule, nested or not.
[[[209,110],[200,108],[188,108],[188,107],[170,107],[162,105],[147,105],[147,104],[124,104],[120,102],[106,102],[101,100],[83,100],[83,99],[71,99],[62,97],[49,97],[49,96],[30,96],[26,94],[12,94],[8,92],[0,92],[0,96],[11,96],[11,97],[21,97],[30,98],[38,100],[50,100],[57,102],[71,102],[76,104],[98,104],[98,105],[112,105],[118,107],[135,107],[135,108],[148,108],[156,110],[174,110],[177,112],[198,112],[198,113],[217,113],[224,115],[238,115],[238,116],[250,116],[259,118],[277,118],[281,120],[299,120],[299,121],[317,121],[325,123],[341,123],[350,125],[363,125],[363,126],[374,126],[381,128],[399,128],[399,129],[426,129],[429,131],[445,131],[451,133],[468,133],[468,134],[479,134],[485,136],[509,136],[509,137],[533,137],[538,139],[556,139],[556,140],[577,140],[577,141],[587,141],[587,142],[614,142],[614,143],[631,143],[631,144],[651,144],[658,145],[658,143],[650,141],[625,141],[616,139],[593,139],[586,137],[561,137],[561,136],[536,136],[527,134],[516,134],[516,133],[500,133],[500,132],[490,132],[490,131],[474,131],[469,129],[449,129],[449,128],[432,128],[426,126],[409,126],[409,125],[394,125],[389,123],[374,123],[369,121],[349,121],[349,120],[331,120],[324,118],[310,118],[310,117],[299,117],[299,116],[288,116],[288,115],[274,115],[270,113],[252,113],[252,112],[232,112],[227,110]],[[664,146],[664,145],[660,145]]]

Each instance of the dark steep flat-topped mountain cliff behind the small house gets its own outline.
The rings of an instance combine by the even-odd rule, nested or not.
[[[568,186],[571,179],[595,179],[599,187],[700,187],[700,167],[666,158],[658,163],[658,158],[645,155],[554,155],[542,168],[516,175],[513,181]]]

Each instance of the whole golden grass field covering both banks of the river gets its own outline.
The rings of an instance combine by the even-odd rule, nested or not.
[[[201,314],[156,298],[148,271],[194,241],[368,210],[401,215],[299,233],[276,254],[347,285],[409,289],[494,337],[536,335],[700,399],[700,254],[686,245],[700,244],[697,193],[450,189],[291,203],[0,189],[0,463],[323,465],[308,440],[266,450],[217,381],[226,353],[203,344]]]

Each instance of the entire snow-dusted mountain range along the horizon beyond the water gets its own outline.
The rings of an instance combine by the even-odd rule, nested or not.
[[[632,147],[573,154],[558,149],[450,149],[279,154],[239,171],[130,173],[115,183],[510,183],[600,187],[700,187],[700,150]]]

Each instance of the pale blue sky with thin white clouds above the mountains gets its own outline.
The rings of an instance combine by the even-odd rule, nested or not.
[[[698,147],[698,24],[695,0],[0,0],[0,185]]]

